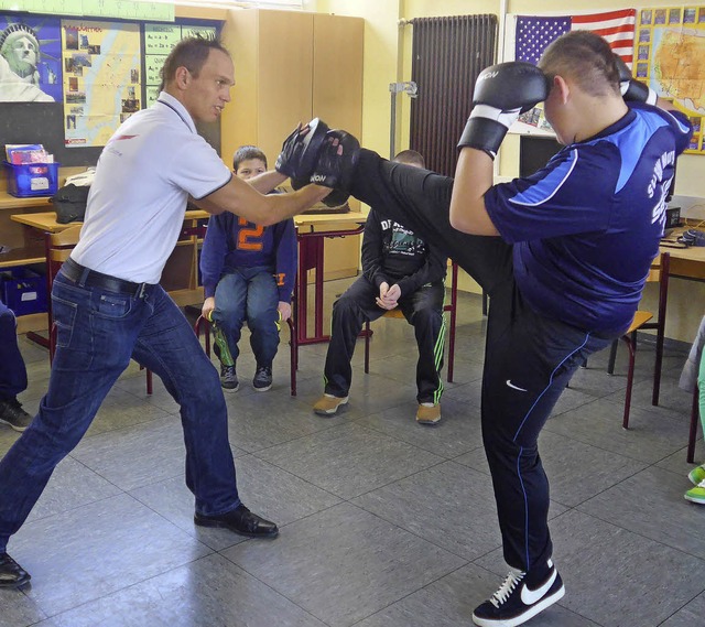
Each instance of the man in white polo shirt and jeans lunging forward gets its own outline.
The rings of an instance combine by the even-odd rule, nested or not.
[[[130,117],[104,149],[80,241],[54,281],[57,338],[48,391],[0,462],[0,586],[30,580],[7,553],[8,540],[130,358],[159,375],[181,406],[195,523],[257,538],[279,532],[240,501],[218,372],[158,283],[189,196],[213,214],[227,210],[267,226],[329,190],[308,185],[262,195],[285,176],[269,172],[248,184],[197,134],[194,121],[215,121],[235,83],[230,55],[218,42],[181,42],[162,73],[159,100]]]

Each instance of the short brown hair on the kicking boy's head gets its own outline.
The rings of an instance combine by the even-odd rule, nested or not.
[[[544,51],[539,67],[549,83],[557,75],[570,76],[586,94],[619,94],[619,68],[609,44],[589,31],[571,31]]]

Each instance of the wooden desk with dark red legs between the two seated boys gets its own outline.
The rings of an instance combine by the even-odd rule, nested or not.
[[[296,278],[296,329],[300,345],[328,342],[323,333],[323,273],[325,238],[359,235],[365,229],[367,215],[361,212],[347,214],[303,214],[294,217],[299,240],[299,273]],[[308,270],[315,270],[314,279],[314,334],[307,331]]]

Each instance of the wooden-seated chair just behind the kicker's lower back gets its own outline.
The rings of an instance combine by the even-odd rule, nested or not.
[[[643,329],[655,329],[657,343],[655,343],[655,364],[653,371],[653,392],[651,402],[652,404],[659,404],[659,391],[661,387],[661,366],[663,363],[663,340],[665,332],[665,305],[669,293],[669,268],[671,256],[668,252],[661,255],[661,262],[659,267],[652,267],[648,282],[659,282],[659,312],[658,317],[653,321],[653,314],[648,311],[639,310],[634,315],[634,320],[627,329],[627,333],[620,337],[620,339],[627,345],[629,349],[629,365],[627,368],[627,392],[625,396],[625,413],[622,418],[622,426],[629,429],[629,409],[631,404],[631,388],[634,377],[634,360],[637,353],[637,332]],[[612,375],[615,371],[615,359],[617,357],[616,339],[612,343],[611,352],[609,355],[609,363],[607,371]]]

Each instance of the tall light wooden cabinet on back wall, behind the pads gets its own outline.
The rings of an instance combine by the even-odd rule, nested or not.
[[[235,87],[220,122],[224,161],[254,144],[271,167],[284,138],[314,117],[360,137],[364,33],[360,18],[230,11],[223,41],[235,62]],[[357,201],[350,205],[359,210]],[[326,279],[357,273],[359,237],[326,240]]]

